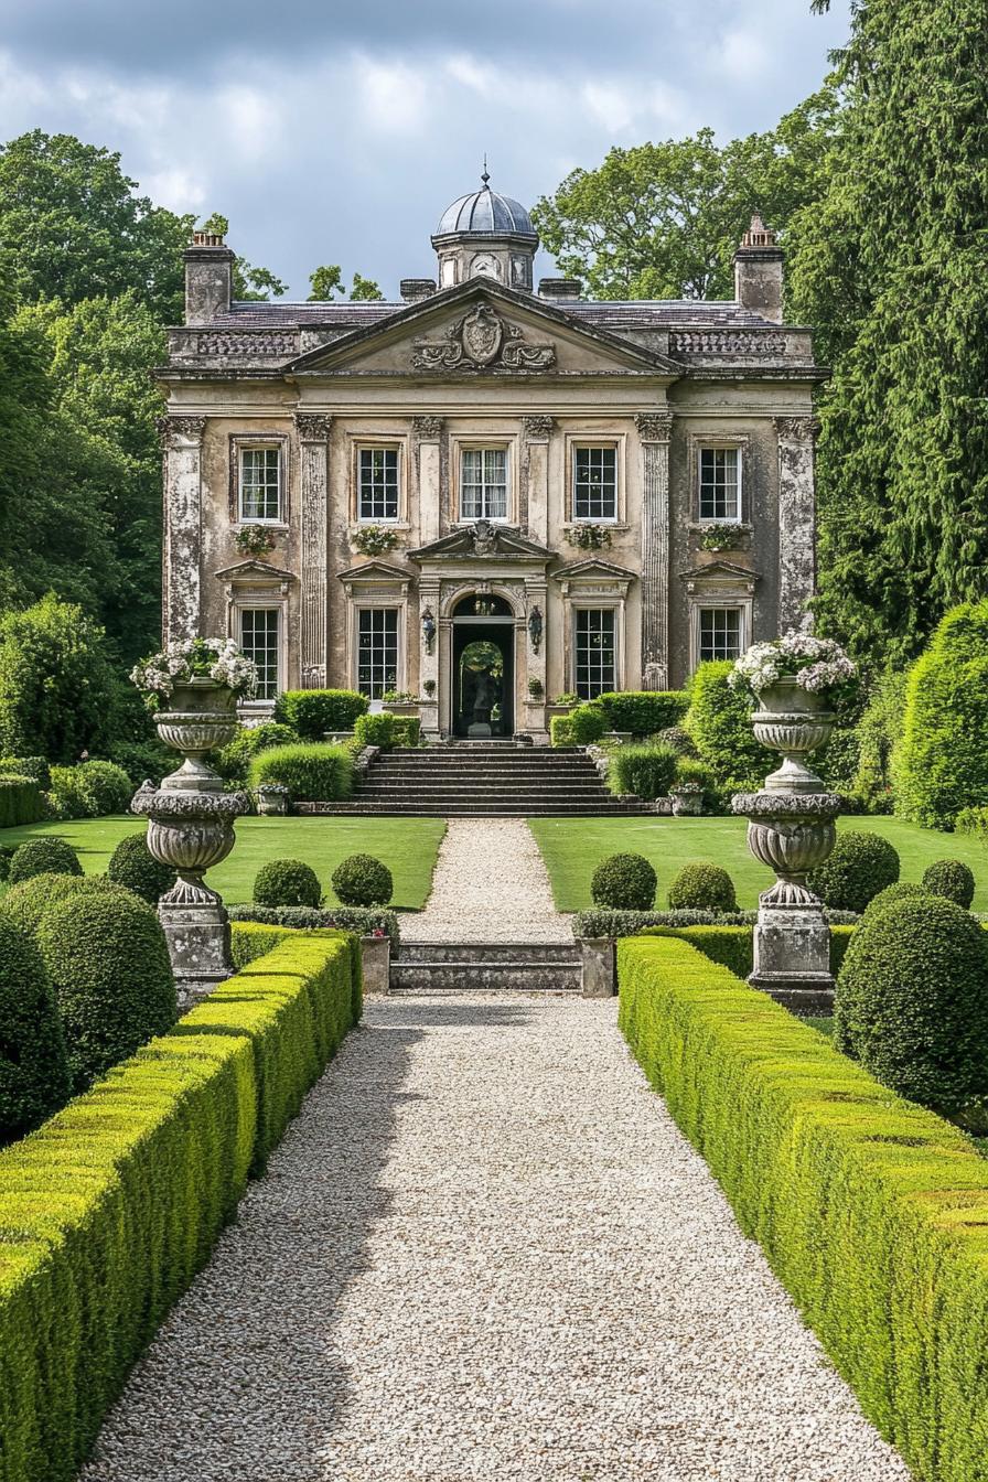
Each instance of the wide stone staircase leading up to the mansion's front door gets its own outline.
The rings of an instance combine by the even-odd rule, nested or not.
[[[518,818],[612,817],[646,808],[607,791],[579,748],[461,741],[382,753],[348,803],[301,803],[298,811]]]

